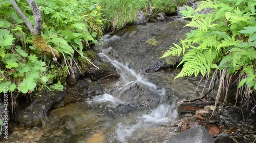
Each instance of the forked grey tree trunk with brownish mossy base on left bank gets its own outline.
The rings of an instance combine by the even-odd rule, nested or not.
[[[39,50],[42,54],[48,55],[51,57],[56,57],[59,58],[60,54],[57,50],[54,48],[51,48],[49,45],[47,45],[46,40],[44,37],[42,37],[41,32],[42,32],[42,17],[41,17],[41,11],[37,7],[37,4],[35,3],[34,0],[27,0],[27,3],[29,4],[32,13],[34,15],[34,20],[35,20],[35,25],[34,27],[32,24],[29,22],[27,17],[23,14],[23,12],[19,9],[17,6],[15,0],[10,0],[12,3],[13,8],[16,10],[18,15],[22,17],[24,20],[25,24],[28,26],[29,31],[32,34],[32,41],[34,47]]]

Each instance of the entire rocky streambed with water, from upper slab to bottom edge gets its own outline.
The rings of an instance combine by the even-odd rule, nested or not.
[[[1,141],[163,142],[200,125],[215,142],[253,142],[253,112],[234,103],[213,106],[217,91],[201,101],[178,103],[208,92],[202,93],[200,77],[174,82],[179,69],[169,67],[180,58],[159,59],[189,31],[185,23],[147,23],[105,35],[95,47],[108,57],[95,55],[101,70],[92,67],[66,92],[46,93],[47,100],[38,97],[18,107],[9,138]]]

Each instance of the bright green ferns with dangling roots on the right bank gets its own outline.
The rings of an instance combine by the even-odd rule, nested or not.
[[[219,80],[216,104],[224,93],[225,104],[231,84],[237,86],[237,99],[255,101],[256,90],[256,13],[255,0],[202,1],[196,10],[187,6],[181,11],[191,21],[185,26],[195,27],[185,40],[170,47],[162,58],[184,54],[183,65],[176,78],[183,76],[209,77],[211,85]],[[210,13],[200,14],[209,9]]]

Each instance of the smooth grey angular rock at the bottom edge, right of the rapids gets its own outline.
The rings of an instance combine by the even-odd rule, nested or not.
[[[169,139],[163,141],[163,143],[173,143],[173,142],[182,142],[182,143],[191,143],[191,142],[197,142],[197,143],[205,143],[205,142],[214,142],[211,135],[208,133],[208,131],[202,127],[197,126],[194,128],[191,128],[189,130],[186,130],[184,132],[181,132],[179,134],[176,134]]]

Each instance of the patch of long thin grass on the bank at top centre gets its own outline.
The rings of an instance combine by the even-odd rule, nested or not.
[[[184,5],[187,0],[103,0],[102,13],[105,17],[104,29],[106,31],[115,32],[123,28],[127,24],[133,24],[136,21],[138,10],[142,10],[145,16],[152,16],[159,12],[165,14],[176,13],[178,6]]]

